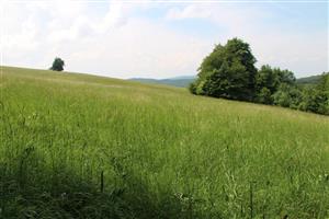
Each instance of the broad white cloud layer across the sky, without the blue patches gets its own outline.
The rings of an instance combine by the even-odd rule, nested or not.
[[[162,4],[161,4],[162,5]],[[4,65],[48,68],[54,57],[65,59],[67,70],[98,72],[118,78],[167,78],[192,74],[215,43],[239,36],[251,44],[260,64],[317,72],[328,68],[322,32],[296,34],[266,26],[271,16],[254,7],[239,4],[166,4],[164,20],[138,18],[152,3],[89,3],[48,1],[5,3]],[[217,26],[218,34],[201,37],[166,25],[201,19]],[[326,31],[326,30],[325,30]],[[307,44],[313,42],[313,44]]]

